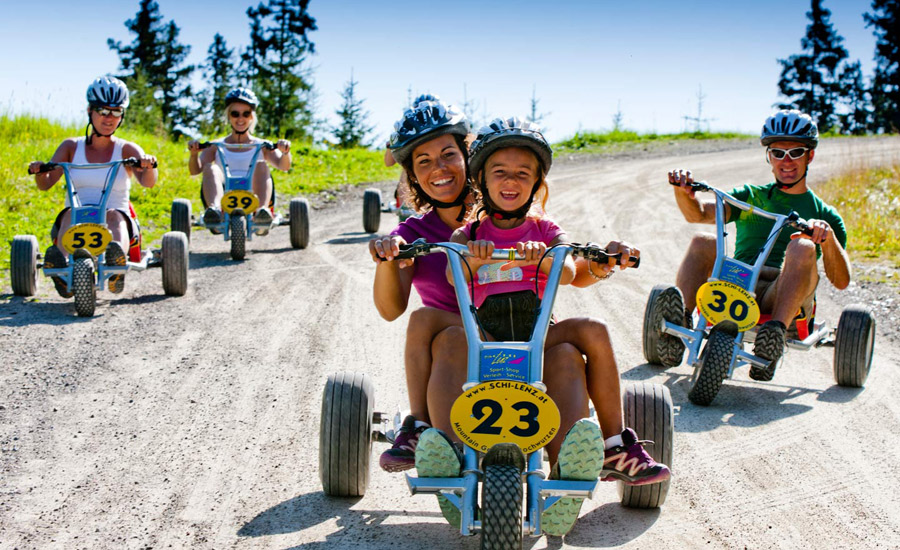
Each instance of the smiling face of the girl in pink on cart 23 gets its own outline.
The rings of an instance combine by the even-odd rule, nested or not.
[[[484,163],[484,180],[494,205],[513,212],[531,198],[531,190],[540,179],[537,158],[528,149],[506,147],[497,150]]]

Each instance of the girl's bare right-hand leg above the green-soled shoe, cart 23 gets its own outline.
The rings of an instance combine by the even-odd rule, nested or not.
[[[559,431],[547,444],[550,464],[556,464],[559,448],[569,428],[589,414],[581,352],[571,344],[559,344],[548,349],[544,353],[544,383],[547,394],[559,407]]]

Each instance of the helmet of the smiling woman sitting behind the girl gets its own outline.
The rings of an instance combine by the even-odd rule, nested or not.
[[[403,164],[416,146],[444,134],[465,137],[469,134],[469,121],[462,111],[440,101],[422,101],[403,113],[394,123],[394,132],[388,148],[394,160]]]

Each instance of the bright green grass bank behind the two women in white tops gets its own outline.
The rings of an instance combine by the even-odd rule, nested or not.
[[[127,124],[127,121],[126,121]],[[39,191],[26,171],[33,160],[48,161],[68,137],[84,135],[84,127],[62,126],[31,116],[0,115],[0,139],[9,146],[0,149],[0,283],[9,285],[9,243],[15,235],[35,235],[43,251],[50,245],[50,226],[63,208],[62,182],[49,191]],[[179,142],[123,128],[116,136],[133,141],[159,161],[159,182],[153,189],[136,183],[131,200],[144,229],[144,246],[157,241],[169,229],[172,200],[190,199],[200,212],[200,177],[187,171],[187,140]],[[384,165],[382,151],[367,149],[318,150],[295,144],[293,167],[274,170],[278,209],[285,211],[291,197],[316,194],[341,185],[363,185],[396,179],[399,169]]]

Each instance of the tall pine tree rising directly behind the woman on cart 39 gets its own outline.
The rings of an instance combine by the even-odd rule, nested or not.
[[[251,44],[242,56],[252,71],[247,80],[260,98],[260,126],[276,136],[310,138],[315,125],[311,71],[304,62],[315,53],[307,33],[317,27],[308,6],[309,0],[268,0],[247,10]]]

